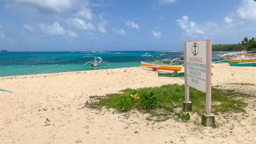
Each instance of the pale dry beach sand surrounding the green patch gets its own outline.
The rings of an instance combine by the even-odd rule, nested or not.
[[[213,86],[253,95],[245,113],[215,115],[217,128],[202,126],[196,113],[187,123],[175,115],[155,122],[137,111],[82,108],[92,95],[184,83],[147,68],[0,77],[0,88],[13,91],[0,91],[0,143],[255,143],[256,86],[230,83],[256,84],[256,67],[213,66]]]

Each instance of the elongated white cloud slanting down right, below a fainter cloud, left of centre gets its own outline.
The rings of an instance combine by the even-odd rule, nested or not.
[[[86,21],[78,18],[73,19],[71,21],[76,28],[83,29],[83,30],[96,30],[94,25],[90,22],[86,23]]]

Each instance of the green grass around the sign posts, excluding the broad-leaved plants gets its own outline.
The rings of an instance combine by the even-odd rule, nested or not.
[[[114,93],[106,95],[108,99],[102,99],[92,103],[99,108],[117,108],[119,100],[129,97],[132,89],[125,89],[124,93]],[[182,101],[185,99],[184,85],[168,84],[160,87],[146,87],[136,90],[140,96],[143,93],[155,92],[157,104],[173,107],[172,101],[177,107],[182,108]],[[220,90],[212,88],[212,113],[216,112],[242,112],[246,107],[243,98],[248,96],[244,93],[238,93],[230,90]],[[205,113],[205,93],[199,92],[193,88],[189,89],[189,99],[193,102],[193,109],[198,114]],[[163,108],[163,107],[162,107]],[[171,108],[164,108],[166,111],[172,111]]]

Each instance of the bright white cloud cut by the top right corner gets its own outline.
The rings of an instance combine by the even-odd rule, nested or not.
[[[256,6],[252,0],[243,0],[236,13],[241,19],[256,20]]]

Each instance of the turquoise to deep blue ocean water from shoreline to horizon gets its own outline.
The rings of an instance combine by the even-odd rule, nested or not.
[[[90,64],[83,65],[93,58],[86,57],[87,54],[100,56],[104,61],[97,69],[126,68],[140,66],[142,61],[155,61],[152,57],[141,57],[148,51],[120,51],[115,52],[0,52],[0,76],[18,76],[44,73],[57,73],[69,71],[94,70]],[[161,52],[149,51],[154,58]],[[163,52],[170,59],[182,55],[183,51]],[[218,52],[213,52],[212,57]],[[85,58],[83,57],[85,56]]]

